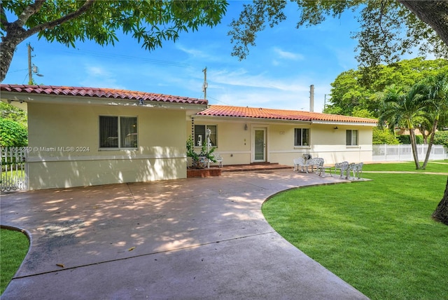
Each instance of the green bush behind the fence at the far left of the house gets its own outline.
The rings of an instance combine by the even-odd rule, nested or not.
[[[24,125],[8,118],[0,118],[0,146],[21,147],[27,144],[28,130]]]

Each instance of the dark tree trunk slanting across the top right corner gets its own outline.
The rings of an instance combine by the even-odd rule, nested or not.
[[[420,20],[428,24],[448,45],[448,1],[415,1],[398,0]]]

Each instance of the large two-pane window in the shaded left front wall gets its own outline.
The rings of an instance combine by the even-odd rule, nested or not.
[[[137,148],[136,116],[99,116],[100,148]]]

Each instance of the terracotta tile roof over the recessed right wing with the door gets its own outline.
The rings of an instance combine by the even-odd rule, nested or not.
[[[291,121],[325,121],[347,123],[372,123],[372,118],[357,118],[354,116],[340,116],[335,114],[321,114],[309,111],[292,111],[284,109],[265,109],[255,107],[230,107],[225,105],[210,105],[208,109],[200,111],[197,116],[228,116],[239,118],[268,118]]]

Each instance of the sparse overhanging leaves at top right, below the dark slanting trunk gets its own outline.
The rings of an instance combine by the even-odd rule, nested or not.
[[[448,57],[448,46],[425,22],[416,18],[398,1],[378,0],[293,0],[297,4],[297,29],[318,25],[326,18],[339,18],[345,11],[359,13],[360,30],[353,33],[358,40],[360,67],[374,67],[381,63],[397,62],[405,53],[418,49],[419,53],[433,53],[437,57]],[[431,1],[419,1],[425,2]],[[255,46],[258,32],[286,19],[283,11],[286,1],[258,1],[245,4],[239,18],[232,20],[228,33],[234,43],[232,55],[240,60],[246,58],[249,47]],[[441,6],[442,7],[442,6]],[[442,10],[446,6],[442,7]],[[437,12],[436,12],[437,13]],[[436,13],[433,13],[435,16]],[[448,12],[444,11],[444,15]],[[443,15],[443,14],[442,14]],[[446,17],[445,17],[446,18]],[[445,23],[444,18],[437,19]],[[370,69],[372,71],[372,69]],[[366,74],[367,75],[367,74]]]

